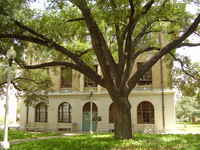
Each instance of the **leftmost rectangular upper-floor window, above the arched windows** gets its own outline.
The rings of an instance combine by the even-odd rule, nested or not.
[[[72,87],[72,69],[62,67],[61,68],[61,88]]]

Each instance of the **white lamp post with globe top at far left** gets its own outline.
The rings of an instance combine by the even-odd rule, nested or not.
[[[7,68],[7,90],[6,90],[6,103],[5,103],[5,116],[4,116],[4,136],[3,142],[0,143],[0,147],[3,149],[9,149],[10,143],[8,142],[8,114],[9,114],[9,100],[10,100],[10,83],[11,83],[11,66],[12,61],[16,57],[16,52],[13,47],[7,51],[8,68]]]

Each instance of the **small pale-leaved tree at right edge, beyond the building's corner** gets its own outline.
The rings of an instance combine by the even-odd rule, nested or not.
[[[181,92],[176,104],[176,115],[181,121],[195,122],[200,117],[200,74],[199,63],[192,63],[187,57],[180,57],[181,66],[174,68],[174,86]]]

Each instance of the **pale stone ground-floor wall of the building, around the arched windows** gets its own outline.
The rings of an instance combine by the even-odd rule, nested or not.
[[[133,91],[129,97],[132,105],[132,126],[133,131],[152,131],[159,132],[163,130],[162,119],[162,101],[161,91],[159,90],[141,90]],[[101,121],[98,122],[97,132],[110,131],[113,129],[113,124],[109,123],[109,107],[112,103],[106,93],[95,93],[92,101],[97,105],[98,116],[101,116]],[[138,124],[137,123],[137,107],[142,101],[149,101],[154,106],[155,123],[154,124]],[[174,92],[165,91],[165,129],[170,130],[175,125],[175,110],[174,110]],[[72,106],[72,123],[58,123],[58,106],[68,102]],[[71,131],[82,131],[82,109],[84,104],[90,102],[89,93],[74,93],[74,94],[51,94],[48,101],[48,122],[35,122],[35,108],[30,107],[29,122],[26,124],[26,115],[21,115],[21,127],[28,127],[32,130],[59,130],[69,128]],[[26,114],[25,106],[22,104],[22,113]]]

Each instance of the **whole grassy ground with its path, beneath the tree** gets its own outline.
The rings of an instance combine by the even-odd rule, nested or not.
[[[200,124],[178,127],[177,131],[200,133]],[[112,134],[63,136],[63,133],[11,130],[9,137],[10,150],[199,150],[200,147],[200,134],[135,134],[131,140],[117,140]]]

